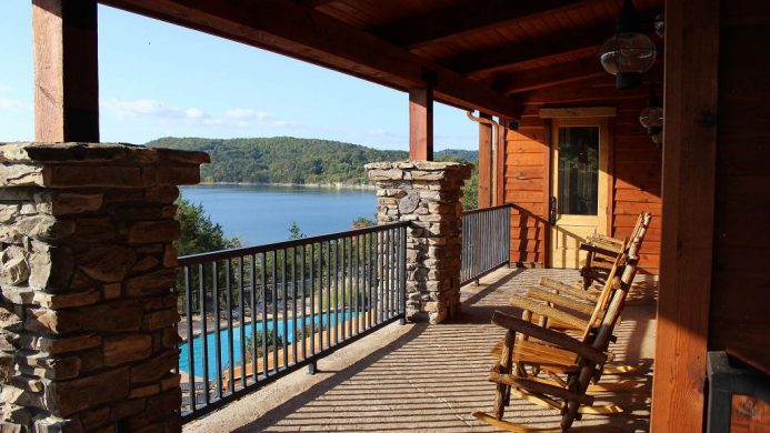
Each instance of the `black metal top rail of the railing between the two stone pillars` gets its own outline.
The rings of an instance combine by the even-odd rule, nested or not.
[[[399,221],[399,222],[391,222],[388,224],[372,225],[372,226],[368,226],[368,228],[363,228],[363,229],[348,230],[348,231],[343,231],[343,232],[336,232],[336,233],[320,234],[320,235],[310,236],[310,238],[294,239],[291,241],[266,243],[266,244],[256,245],[256,246],[236,248],[236,249],[231,249],[231,250],[210,251],[210,252],[204,252],[204,253],[199,253],[199,254],[190,254],[190,255],[184,255],[184,256],[179,258],[178,265],[179,266],[189,266],[189,265],[193,265],[193,264],[211,262],[214,260],[232,259],[232,258],[239,258],[242,255],[259,254],[262,252],[268,252],[268,251],[273,251],[273,250],[283,250],[283,249],[292,248],[292,246],[309,245],[312,243],[331,241],[331,240],[340,239],[340,238],[351,238],[351,236],[356,236],[356,235],[360,235],[360,234],[381,232],[381,231],[386,231],[389,229],[407,226],[409,224],[410,224],[409,221]]]

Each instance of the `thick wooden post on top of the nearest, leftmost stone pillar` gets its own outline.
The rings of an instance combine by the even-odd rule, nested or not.
[[[99,142],[96,0],[32,0],[34,139]]]

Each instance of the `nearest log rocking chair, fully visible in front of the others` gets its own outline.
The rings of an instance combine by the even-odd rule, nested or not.
[[[609,302],[597,302],[597,309],[588,322],[581,339],[563,332],[540,326],[528,320],[517,319],[496,312],[492,323],[506,328],[499,361],[490,372],[489,380],[498,384],[493,415],[476,412],[473,416],[491,425],[513,432],[549,431],[528,429],[522,425],[502,421],[504,406],[510,395],[518,396],[534,404],[552,407],[561,412],[561,430],[567,430],[581,413],[611,413],[590,411],[593,397],[587,394],[591,381],[601,376],[604,363],[610,359],[607,349],[612,340],[612,332],[620,318],[630,282],[637,271],[639,236],[632,240],[628,253],[616,259],[613,269],[618,271],[622,263],[622,276],[610,276],[606,284]],[[617,284],[614,283],[617,281]],[[601,311],[600,304],[606,306]],[[546,310],[538,309],[541,313]],[[553,315],[553,312],[548,312]],[[599,319],[594,328],[593,320]],[[596,316],[596,318],[594,318]],[[562,316],[562,319],[564,319]],[[517,338],[517,332],[520,336]],[[537,339],[537,340],[530,340]],[[550,380],[529,375],[527,366],[542,369]],[[562,379],[564,375],[566,379]],[[581,429],[583,430],[583,429]],[[550,430],[552,431],[552,430]],[[607,431],[606,429],[602,431]]]

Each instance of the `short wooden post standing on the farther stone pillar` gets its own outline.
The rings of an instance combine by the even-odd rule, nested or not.
[[[409,159],[433,160],[433,90],[409,89]]]

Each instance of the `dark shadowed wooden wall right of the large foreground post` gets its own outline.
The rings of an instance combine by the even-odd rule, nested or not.
[[[770,364],[770,3],[722,1],[709,350]],[[762,54],[760,54],[762,53]]]

